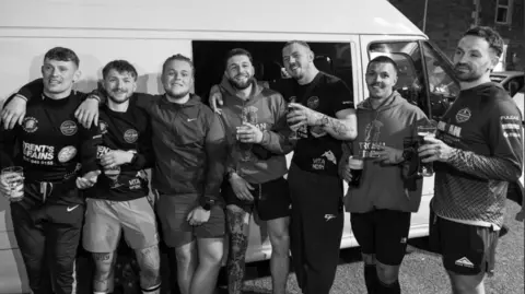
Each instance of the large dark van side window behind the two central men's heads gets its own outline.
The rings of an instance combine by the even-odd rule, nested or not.
[[[233,48],[243,48],[252,54],[257,81],[267,82],[270,89],[289,98],[285,93],[287,87],[293,83],[282,62],[284,44],[284,42],[194,40],[191,47],[195,63],[195,93],[207,103],[211,86],[219,84],[222,80],[224,57],[228,51]],[[315,54],[316,68],[340,78],[349,89],[352,89],[350,43],[308,42],[308,45]]]

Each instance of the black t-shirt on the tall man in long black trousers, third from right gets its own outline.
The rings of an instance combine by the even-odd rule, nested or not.
[[[353,109],[353,95],[339,78],[319,72],[305,85],[294,80],[283,80],[271,85],[288,101],[294,99],[316,111],[336,117],[339,110]],[[303,128],[294,150],[292,162],[301,169],[338,176],[337,163],[342,155],[341,141],[319,127]]]

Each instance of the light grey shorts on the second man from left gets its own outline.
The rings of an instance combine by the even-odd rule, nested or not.
[[[153,208],[145,197],[130,201],[86,199],[82,245],[90,252],[113,252],[120,232],[132,249],[159,244]]]

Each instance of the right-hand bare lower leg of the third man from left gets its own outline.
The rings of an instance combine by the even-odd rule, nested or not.
[[[197,239],[197,249],[199,266],[191,280],[190,293],[212,294],[224,255],[224,238],[199,238]]]

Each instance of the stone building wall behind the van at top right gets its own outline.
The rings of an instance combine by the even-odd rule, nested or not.
[[[389,0],[423,30],[424,0]],[[510,25],[495,24],[497,0],[478,0],[478,24],[494,27],[508,42],[504,67],[525,70],[525,0],[514,0]],[[448,56],[463,33],[475,24],[476,0],[428,0],[424,32]]]

